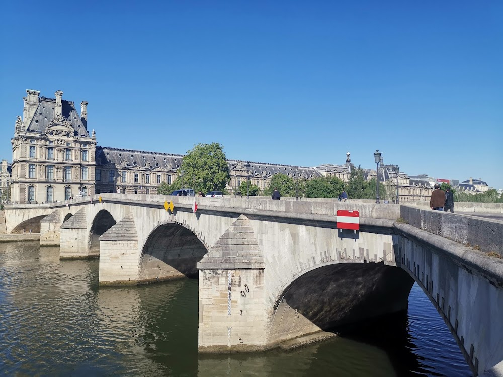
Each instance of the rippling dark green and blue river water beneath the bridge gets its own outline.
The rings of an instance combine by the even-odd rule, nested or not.
[[[408,313],[294,351],[197,353],[198,282],[98,287],[99,260],[0,244],[0,372],[50,376],[471,376],[414,285]]]

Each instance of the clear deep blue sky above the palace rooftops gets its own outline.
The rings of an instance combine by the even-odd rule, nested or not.
[[[26,89],[87,100],[99,145],[503,188],[503,2],[9,1],[0,157]]]

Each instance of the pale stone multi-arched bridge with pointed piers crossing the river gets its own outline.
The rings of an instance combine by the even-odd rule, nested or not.
[[[503,251],[503,222],[403,205],[101,196],[8,206],[5,229],[39,231],[61,258],[99,256],[101,285],[198,276],[200,352],[265,350],[405,310],[416,281],[474,375],[503,367],[503,261],[484,252]],[[360,231],[338,230],[337,209],[360,211]]]

